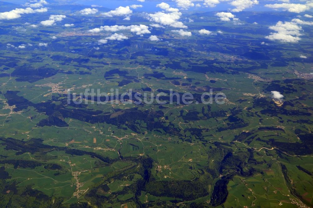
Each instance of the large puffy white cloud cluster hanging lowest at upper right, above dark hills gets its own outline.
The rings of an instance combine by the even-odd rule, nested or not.
[[[301,38],[302,34],[300,31],[302,27],[297,25],[295,22],[277,22],[276,25],[270,26],[269,29],[274,30],[275,32],[271,32],[269,36],[265,36],[265,38],[269,40],[279,40],[280,42],[298,42]]]

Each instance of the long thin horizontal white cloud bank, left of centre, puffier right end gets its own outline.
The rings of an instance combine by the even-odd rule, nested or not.
[[[92,30],[89,30],[89,32],[97,33],[97,32],[117,32],[121,30],[129,30],[131,32],[135,32],[136,35],[142,35],[142,34],[149,34],[151,33],[149,31],[149,27],[146,25],[130,25],[130,26],[124,26],[124,25],[113,25],[113,26],[101,26],[100,28],[94,28]]]

